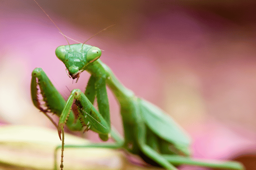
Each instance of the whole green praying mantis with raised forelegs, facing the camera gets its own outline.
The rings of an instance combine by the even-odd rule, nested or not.
[[[59,117],[58,125],[54,124],[60,139],[62,133],[62,145],[55,149],[55,169],[56,151],[60,148],[61,170],[64,167],[64,147],[122,148],[140,156],[148,164],[167,170],[177,170],[177,166],[181,164],[230,170],[244,169],[241,163],[235,161],[208,162],[191,158],[191,140],[186,132],[160,108],[125,88],[111,69],[99,59],[102,54],[99,48],[84,43],[61,45],[55,50],[55,54],[64,63],[72,79],[78,80],[83,71],[91,74],[85,92],[74,89],[65,101],[41,68],[32,71],[31,96],[34,105],[53,123],[47,113],[51,112]],[[111,127],[107,85],[120,105],[124,137]],[[95,98],[99,111],[93,106]],[[71,111],[74,100],[77,114]],[[93,130],[99,133],[103,141],[111,137],[115,143],[64,146],[64,125],[70,130]]]

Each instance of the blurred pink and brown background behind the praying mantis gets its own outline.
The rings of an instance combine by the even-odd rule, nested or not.
[[[256,3],[253,1],[38,0],[65,35],[104,50],[129,89],[169,113],[193,139],[195,157],[250,158],[256,167]],[[69,40],[70,43],[72,40]],[[72,83],[55,48],[64,37],[33,0],[0,1],[0,121],[55,128],[30,99],[41,67],[67,99]],[[120,133],[109,91],[111,123]],[[89,132],[89,138],[99,141]],[[239,157],[239,158],[238,158]],[[253,164],[254,162],[254,164]],[[254,167],[253,167],[254,168]]]

